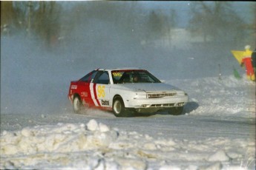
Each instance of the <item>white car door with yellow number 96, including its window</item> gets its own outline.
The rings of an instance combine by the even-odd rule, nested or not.
[[[95,106],[110,107],[110,78],[108,71],[99,71],[90,86]]]

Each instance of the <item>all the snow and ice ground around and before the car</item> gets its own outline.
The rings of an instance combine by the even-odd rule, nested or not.
[[[166,81],[184,115],[1,113],[0,169],[255,169],[255,83],[233,76]],[[68,100],[68,99],[67,99]]]

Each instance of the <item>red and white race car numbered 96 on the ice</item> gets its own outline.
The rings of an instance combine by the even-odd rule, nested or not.
[[[95,69],[70,82],[68,98],[76,113],[84,107],[96,107],[111,110],[116,117],[160,110],[181,114],[188,102],[186,92],[137,68]]]

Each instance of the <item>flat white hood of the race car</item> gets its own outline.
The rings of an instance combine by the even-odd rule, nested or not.
[[[152,91],[173,91],[173,90],[180,90],[176,86],[171,86],[170,84],[163,84],[163,83],[137,83],[137,84],[115,84],[119,87],[119,89],[126,89],[131,90],[134,92],[137,91],[145,91],[145,92],[152,92]]]

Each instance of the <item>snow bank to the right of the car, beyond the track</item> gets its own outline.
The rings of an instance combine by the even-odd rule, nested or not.
[[[255,82],[249,81],[246,75],[242,79],[234,75],[210,78],[167,81],[188,92],[187,111],[192,115],[214,114],[225,112],[228,115],[243,112],[255,113]],[[197,107],[191,110],[191,104]]]

